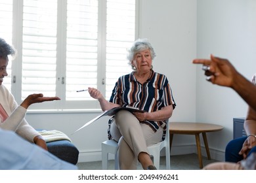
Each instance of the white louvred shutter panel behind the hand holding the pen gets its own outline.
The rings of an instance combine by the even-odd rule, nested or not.
[[[97,88],[98,1],[67,1],[66,100],[92,100],[85,92]]]

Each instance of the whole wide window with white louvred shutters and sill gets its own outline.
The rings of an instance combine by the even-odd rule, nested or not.
[[[0,26],[9,26],[1,37],[18,51],[9,71],[16,82],[10,77],[5,86],[18,103],[31,93],[61,98],[34,109],[98,108],[76,91],[98,88],[109,99],[117,78],[131,72],[126,49],[135,40],[135,7],[135,0],[0,0]]]

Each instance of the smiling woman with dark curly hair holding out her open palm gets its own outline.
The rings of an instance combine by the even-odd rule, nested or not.
[[[9,63],[8,56],[15,57],[16,50],[8,44],[4,39],[0,38],[0,128],[15,131],[20,137],[29,142],[33,142],[41,148],[47,150],[46,142],[43,137],[25,120],[27,108],[33,103],[41,103],[44,101],[60,100],[58,97],[43,97],[43,94],[29,95],[20,106],[16,103],[13,95],[3,85],[3,78],[8,75],[7,65]],[[15,119],[7,120],[14,110],[19,115]]]

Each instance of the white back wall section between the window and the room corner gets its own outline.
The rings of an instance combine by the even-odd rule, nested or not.
[[[148,38],[157,57],[154,71],[167,76],[177,107],[170,122],[196,121],[196,0],[140,1],[140,37]],[[175,135],[171,154],[191,153],[195,138]],[[194,152],[194,148],[192,149]]]

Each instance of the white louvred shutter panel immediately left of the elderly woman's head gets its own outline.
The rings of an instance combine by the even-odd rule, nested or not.
[[[127,48],[135,41],[135,0],[108,0],[106,10],[106,98],[121,75],[131,73]]]

